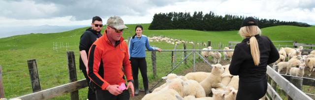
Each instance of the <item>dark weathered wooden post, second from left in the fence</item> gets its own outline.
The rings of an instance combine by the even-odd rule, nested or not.
[[[28,66],[29,66],[29,72],[30,72],[30,77],[31,77],[31,82],[32,82],[32,90],[33,92],[40,91],[41,88],[40,88],[40,83],[39,83],[36,59],[28,60]]]

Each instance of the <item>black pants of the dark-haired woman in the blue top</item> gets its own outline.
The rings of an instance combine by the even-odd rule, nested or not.
[[[149,81],[147,76],[147,61],[146,58],[130,58],[131,61],[131,69],[132,69],[132,77],[135,80],[135,82],[138,80],[138,73],[140,69],[142,80],[143,80],[143,86],[145,90],[148,90],[149,87]],[[135,83],[137,84],[137,83]]]

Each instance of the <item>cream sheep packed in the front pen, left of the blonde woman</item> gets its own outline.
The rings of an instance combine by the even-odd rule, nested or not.
[[[229,64],[212,66],[211,73],[169,74],[162,77],[166,82],[142,100],[236,100],[239,76],[229,73]]]

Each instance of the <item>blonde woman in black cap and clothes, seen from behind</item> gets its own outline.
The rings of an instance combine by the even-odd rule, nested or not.
[[[244,19],[239,34],[245,39],[235,46],[229,67],[231,75],[239,75],[236,100],[258,100],[267,92],[267,65],[278,60],[279,53],[267,36],[260,36],[252,17]]]

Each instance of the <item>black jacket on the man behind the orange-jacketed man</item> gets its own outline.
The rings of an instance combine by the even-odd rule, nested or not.
[[[89,56],[89,50],[92,46],[92,44],[96,41],[97,38],[101,37],[102,34],[100,34],[100,31],[95,31],[92,28],[86,29],[86,31],[81,35],[80,37],[80,45],[79,50],[85,50],[87,53],[87,56]],[[80,70],[86,70],[85,65],[81,59],[79,59],[79,66]]]

